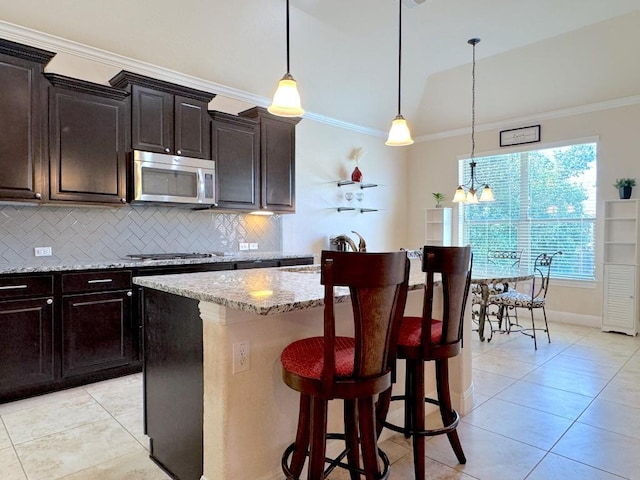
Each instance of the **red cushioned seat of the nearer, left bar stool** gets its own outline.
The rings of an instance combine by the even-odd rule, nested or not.
[[[353,375],[355,339],[336,337],[336,377]],[[282,368],[306,378],[322,378],[324,367],[324,337],[303,338],[288,345],[280,356]]]

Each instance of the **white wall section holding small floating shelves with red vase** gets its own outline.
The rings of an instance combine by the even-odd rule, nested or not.
[[[331,234],[352,234],[356,230],[367,241],[369,251],[407,247],[406,242],[406,148],[387,147],[384,139],[303,120],[296,130],[296,214],[282,219],[283,249],[315,253],[328,247]],[[356,186],[337,186],[350,178],[356,166],[351,151],[362,147],[366,154],[359,161],[364,182],[379,184],[359,190]],[[362,207],[378,212],[340,212],[346,206],[344,193],[361,191]],[[355,199],[352,206],[360,206]]]

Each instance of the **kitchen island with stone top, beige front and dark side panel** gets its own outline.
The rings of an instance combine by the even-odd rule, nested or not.
[[[415,315],[424,274],[419,260],[411,263],[406,310]],[[282,382],[279,358],[290,342],[322,335],[319,266],[149,276],[134,283],[144,287],[151,457],[180,480],[281,479],[280,457],[295,436],[299,395]],[[352,334],[348,289],[337,302],[336,314],[345,319],[337,333]],[[240,343],[248,345],[248,363],[234,365],[234,344]],[[402,362],[399,370],[402,379]],[[469,348],[451,363],[451,392],[458,411],[468,412]],[[329,430],[339,431],[342,405],[333,403]],[[401,405],[393,407],[389,418],[400,420]],[[328,444],[328,454],[335,449],[339,445]]]

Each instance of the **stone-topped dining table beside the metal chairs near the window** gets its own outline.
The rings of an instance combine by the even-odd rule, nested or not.
[[[511,284],[531,279],[533,279],[533,272],[523,269],[522,267],[495,268],[495,265],[489,265],[487,267],[480,266],[476,268],[474,266],[471,271],[471,284],[480,289],[481,302],[478,314],[478,336],[480,337],[480,341],[484,342],[485,340],[484,329],[491,289],[494,288],[495,285],[502,284],[503,291],[507,291]],[[488,341],[491,340],[492,336],[493,329],[491,329]]]

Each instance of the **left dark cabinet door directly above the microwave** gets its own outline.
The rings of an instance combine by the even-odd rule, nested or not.
[[[131,90],[131,146],[134,150],[173,153],[173,95],[151,88]]]

